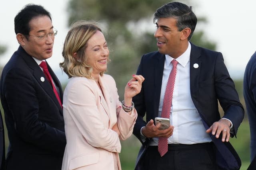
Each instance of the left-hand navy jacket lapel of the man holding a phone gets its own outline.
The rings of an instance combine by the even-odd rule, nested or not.
[[[164,72],[165,55],[160,54],[154,62],[154,116],[158,117],[158,109],[161,95],[162,78]]]

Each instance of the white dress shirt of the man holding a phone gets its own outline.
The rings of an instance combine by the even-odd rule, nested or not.
[[[174,126],[174,131],[173,135],[168,138],[168,143],[170,144],[195,144],[212,141],[208,133],[206,133],[202,118],[200,117],[190,94],[190,52],[191,45],[188,43],[188,49],[176,59],[176,61],[178,61],[177,73],[174,83],[172,107],[170,110],[170,123]],[[174,58],[169,55],[165,55],[158,117],[161,117],[164,94],[168,77],[172,70],[171,61],[173,59]],[[142,141],[145,141],[146,139],[142,132],[141,139]],[[158,137],[153,138],[150,145],[158,145]]]

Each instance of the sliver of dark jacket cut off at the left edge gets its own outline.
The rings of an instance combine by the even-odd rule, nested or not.
[[[0,170],[5,170],[4,124],[0,111]]]

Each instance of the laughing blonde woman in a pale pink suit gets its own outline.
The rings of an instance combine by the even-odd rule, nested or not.
[[[132,97],[144,78],[133,75],[121,103],[114,79],[104,74],[109,50],[95,23],[74,23],[62,55],[60,66],[70,78],[63,99],[67,145],[62,170],[121,170],[120,139],[132,134],[137,117]]]

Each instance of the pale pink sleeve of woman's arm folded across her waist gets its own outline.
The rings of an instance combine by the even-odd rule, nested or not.
[[[118,134],[104,127],[102,114],[97,107],[94,90],[89,82],[84,80],[74,82],[67,96],[64,107],[86,141],[93,147],[120,152],[121,144]]]

